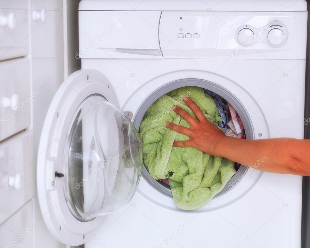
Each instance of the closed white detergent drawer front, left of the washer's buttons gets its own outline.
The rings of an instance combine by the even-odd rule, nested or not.
[[[161,11],[79,11],[80,58],[162,58]],[[76,56],[77,57],[77,56]]]

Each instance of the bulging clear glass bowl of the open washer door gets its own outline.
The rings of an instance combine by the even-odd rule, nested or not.
[[[142,141],[127,116],[103,96],[79,105],[64,146],[64,194],[75,218],[88,221],[131,200],[142,167]]]

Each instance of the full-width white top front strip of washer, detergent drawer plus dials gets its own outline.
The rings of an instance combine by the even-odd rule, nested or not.
[[[85,30],[79,33],[80,58],[305,59],[306,54],[306,11],[80,11],[79,18]]]

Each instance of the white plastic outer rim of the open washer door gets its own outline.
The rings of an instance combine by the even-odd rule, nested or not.
[[[92,238],[105,217],[87,222],[77,220],[66,202],[61,178],[66,134],[79,104],[92,94],[100,94],[119,107],[109,80],[99,71],[84,69],[71,74],[57,90],[43,124],[37,160],[38,200],[43,219],[51,234],[72,246]]]

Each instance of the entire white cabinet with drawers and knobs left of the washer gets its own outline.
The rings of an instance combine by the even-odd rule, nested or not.
[[[76,21],[68,26],[77,32],[78,0],[69,5]],[[0,1],[0,247],[65,247],[48,232],[34,196],[38,137],[67,70],[66,6],[63,0]],[[28,232],[34,219],[38,225]]]

